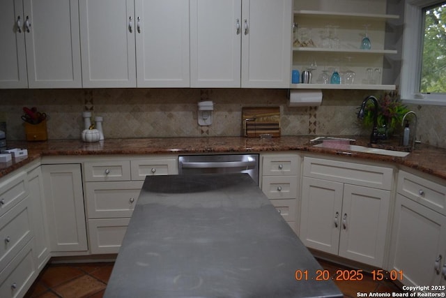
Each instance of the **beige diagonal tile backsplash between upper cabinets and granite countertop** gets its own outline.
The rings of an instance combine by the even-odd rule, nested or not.
[[[357,107],[379,91],[324,90],[318,107],[289,107],[284,89],[8,89],[0,90],[0,122],[8,140],[24,140],[22,107],[48,115],[48,138],[78,139],[82,112],[102,116],[105,138],[241,135],[242,107],[279,106],[282,135],[368,135]],[[199,126],[197,103],[212,100],[213,124]],[[446,107],[411,105],[424,143],[446,148]],[[435,129],[433,129],[435,128]]]

